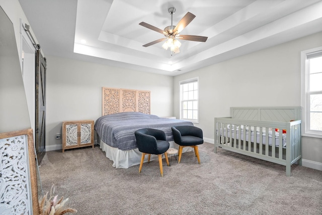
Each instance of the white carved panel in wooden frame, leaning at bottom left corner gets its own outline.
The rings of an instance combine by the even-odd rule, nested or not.
[[[0,214],[39,214],[32,129],[0,134]]]

